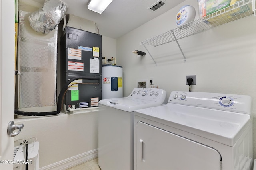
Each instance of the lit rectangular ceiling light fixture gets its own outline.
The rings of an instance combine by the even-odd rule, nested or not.
[[[90,0],[87,8],[101,14],[113,0]]]

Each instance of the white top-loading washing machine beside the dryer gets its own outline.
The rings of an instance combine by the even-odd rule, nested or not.
[[[99,158],[102,170],[134,167],[134,110],[167,104],[166,91],[134,88],[128,97],[99,102]]]

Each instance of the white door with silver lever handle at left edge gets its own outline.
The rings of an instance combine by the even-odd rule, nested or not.
[[[14,0],[0,0],[0,169],[11,170],[14,139],[7,126],[14,121]]]

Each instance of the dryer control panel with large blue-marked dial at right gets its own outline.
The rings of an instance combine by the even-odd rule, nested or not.
[[[173,91],[168,103],[251,114],[251,100],[246,95]]]

